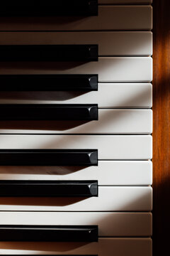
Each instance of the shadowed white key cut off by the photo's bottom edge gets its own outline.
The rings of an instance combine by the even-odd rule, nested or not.
[[[99,238],[98,242],[0,242],[1,255],[152,256],[150,238]]]

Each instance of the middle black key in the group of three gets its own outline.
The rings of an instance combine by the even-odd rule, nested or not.
[[[97,91],[98,75],[0,75],[0,91]]]

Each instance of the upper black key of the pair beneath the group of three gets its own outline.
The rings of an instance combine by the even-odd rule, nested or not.
[[[97,149],[0,149],[1,166],[97,166]]]

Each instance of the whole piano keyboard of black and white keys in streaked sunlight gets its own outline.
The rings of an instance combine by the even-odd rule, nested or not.
[[[1,255],[152,256],[151,4],[2,4]]]

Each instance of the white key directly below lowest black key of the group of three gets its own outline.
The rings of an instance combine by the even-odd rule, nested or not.
[[[152,110],[98,110],[98,121],[91,122],[0,121],[0,132],[10,134],[151,134]]]

